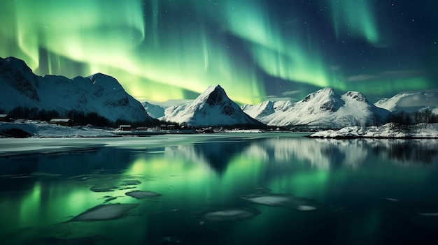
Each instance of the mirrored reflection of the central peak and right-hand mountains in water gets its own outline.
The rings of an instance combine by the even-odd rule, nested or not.
[[[299,161],[312,168],[332,170],[359,168],[369,158],[387,159],[400,164],[433,163],[438,158],[438,142],[430,140],[332,140],[307,138],[261,138],[244,142],[211,142],[178,146],[190,161],[208,164],[225,172],[238,155],[258,158],[268,168],[294,168]],[[276,165],[272,165],[275,163]]]

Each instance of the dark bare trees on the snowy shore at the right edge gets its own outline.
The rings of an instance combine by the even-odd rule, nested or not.
[[[435,124],[438,123],[438,115],[430,109],[413,113],[401,111],[390,114],[386,121],[400,125]]]

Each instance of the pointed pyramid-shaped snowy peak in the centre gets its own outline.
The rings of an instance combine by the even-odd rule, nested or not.
[[[167,108],[160,119],[190,126],[262,125],[229,99],[220,85],[208,87],[192,103]]]

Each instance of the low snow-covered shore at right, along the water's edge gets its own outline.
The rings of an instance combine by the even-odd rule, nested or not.
[[[319,131],[310,138],[438,138],[438,124],[411,126],[351,126],[339,130]]]

